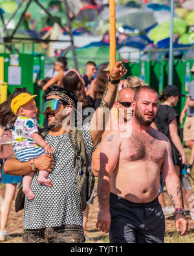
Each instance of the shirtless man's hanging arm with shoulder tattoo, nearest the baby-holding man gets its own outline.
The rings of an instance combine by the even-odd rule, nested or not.
[[[114,150],[113,150],[114,148]],[[109,231],[111,215],[109,198],[111,192],[111,173],[116,168],[120,156],[120,139],[115,132],[109,132],[100,147],[100,172],[98,174],[98,202],[100,211],[96,227],[106,233]]]

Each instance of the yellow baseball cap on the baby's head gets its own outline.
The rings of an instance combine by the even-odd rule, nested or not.
[[[14,115],[17,115],[17,110],[23,105],[25,105],[28,101],[32,100],[37,95],[30,95],[29,93],[20,93],[11,102],[11,109]]]

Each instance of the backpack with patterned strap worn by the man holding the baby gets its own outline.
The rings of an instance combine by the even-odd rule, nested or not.
[[[81,210],[86,208],[86,202],[91,198],[94,189],[95,178],[89,171],[89,159],[85,150],[85,143],[81,130],[70,130],[69,139],[74,150],[74,178],[78,185]]]

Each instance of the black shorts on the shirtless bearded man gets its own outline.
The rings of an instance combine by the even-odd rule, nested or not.
[[[165,218],[158,198],[135,204],[116,194],[110,195],[111,243],[163,243]]]

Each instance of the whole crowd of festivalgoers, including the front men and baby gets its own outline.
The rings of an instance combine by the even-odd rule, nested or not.
[[[16,88],[0,105],[0,144],[10,130],[14,148],[1,159],[5,195],[0,241],[9,239],[6,223],[21,182],[26,195],[23,242],[91,240],[87,220],[94,189],[81,209],[69,139],[72,124],[83,134],[88,170],[98,176],[99,213],[94,222],[109,232],[110,242],[164,242],[165,218],[173,215],[178,231],[182,226],[180,235],[188,231],[184,205],[192,220],[194,205],[181,169],[186,166],[191,174],[194,162],[193,82],[179,117],[174,107],[186,95],[178,87],[167,85],[158,96],[141,78],[124,79],[126,74],[122,62],[110,71],[109,64],[97,68],[90,61],[81,75],[67,68],[65,57],[58,58],[38,82],[45,91],[43,129],[38,124],[36,95],[27,89]],[[72,113],[76,113],[75,122]],[[191,149],[189,160],[179,132],[186,113],[184,141]],[[164,200],[164,186],[171,205]]]

